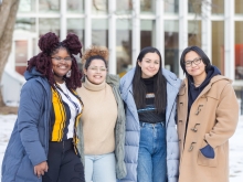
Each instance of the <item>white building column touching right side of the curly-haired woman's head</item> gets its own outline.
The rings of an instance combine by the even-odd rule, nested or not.
[[[108,0],[108,50],[109,50],[109,74],[116,74],[116,1]]]

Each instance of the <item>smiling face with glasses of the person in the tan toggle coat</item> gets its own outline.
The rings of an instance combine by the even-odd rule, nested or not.
[[[192,77],[205,77],[205,64],[203,63],[199,54],[194,51],[190,51],[186,54],[184,56],[184,62],[191,62],[193,63],[190,64],[190,66],[186,66],[186,71],[188,72],[189,75]],[[199,63],[200,60],[200,63]],[[198,62],[198,63],[197,63]],[[197,64],[196,64],[197,63]]]

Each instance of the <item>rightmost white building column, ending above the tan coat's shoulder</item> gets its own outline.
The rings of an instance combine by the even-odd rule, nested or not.
[[[224,73],[234,81],[234,0],[224,0]]]

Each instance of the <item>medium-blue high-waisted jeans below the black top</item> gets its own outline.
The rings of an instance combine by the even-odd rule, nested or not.
[[[167,182],[167,144],[163,122],[140,122],[138,182]]]

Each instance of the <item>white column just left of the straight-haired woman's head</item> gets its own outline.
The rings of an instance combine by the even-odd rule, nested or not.
[[[131,64],[136,66],[137,56],[140,52],[140,0],[133,0],[133,29],[131,29]]]

